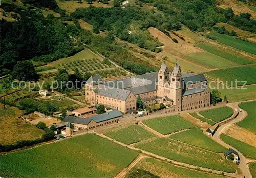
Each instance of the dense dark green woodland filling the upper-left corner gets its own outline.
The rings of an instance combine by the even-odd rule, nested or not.
[[[0,73],[6,70],[10,73],[18,61],[33,59],[49,62],[71,56],[83,49],[81,44],[74,43],[69,37],[70,28],[52,14],[44,17],[39,10],[27,10],[14,4],[1,4],[1,7],[18,13],[19,19],[12,22],[0,20]],[[26,64],[30,67],[29,63]],[[22,65],[20,63],[17,66],[18,71]],[[20,70],[25,72],[24,69]],[[34,71],[29,69],[27,72],[22,79],[31,79]],[[18,74],[14,75],[21,78]]]

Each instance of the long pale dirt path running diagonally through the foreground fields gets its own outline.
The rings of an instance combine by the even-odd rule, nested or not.
[[[143,154],[147,155],[148,157],[152,157],[152,158],[155,158],[155,159],[158,159],[158,160],[161,160],[161,161],[172,162],[172,164],[175,164],[175,165],[178,165],[178,166],[182,166],[182,167],[186,167],[186,168],[189,168],[189,169],[195,169],[195,170],[199,170],[200,169],[201,171],[211,172],[211,173],[220,174],[220,175],[222,175],[222,172],[223,172],[223,171],[218,171],[218,170],[198,167],[198,166],[189,165],[189,164],[186,164],[186,163],[170,160],[170,159],[167,159],[167,158],[162,157],[160,155],[154,154],[152,152],[148,152],[148,151],[145,151],[145,150],[142,150],[142,149],[139,149],[139,148],[135,148],[133,146],[126,145],[124,143],[118,142],[118,141],[116,141],[116,140],[114,140],[114,139],[112,139],[110,137],[107,137],[107,136],[103,135],[102,133],[97,133],[97,132],[94,132],[94,133],[96,133],[96,135],[98,135],[98,136],[100,136],[102,138],[108,139],[108,140],[110,140],[112,142],[115,142],[115,143],[117,143],[119,145],[125,146],[125,147],[127,147],[129,149],[132,149],[132,150],[135,150],[135,151],[138,151],[138,152],[142,152]],[[224,174],[227,175],[227,176],[230,176],[230,177],[240,177],[236,173],[227,173],[227,172],[225,172]]]

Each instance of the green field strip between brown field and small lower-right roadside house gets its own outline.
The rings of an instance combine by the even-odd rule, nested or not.
[[[226,142],[227,144],[237,148],[245,157],[256,159],[256,148],[254,146],[248,145],[244,142],[241,142],[237,139],[233,139],[225,134],[221,134],[221,140]]]

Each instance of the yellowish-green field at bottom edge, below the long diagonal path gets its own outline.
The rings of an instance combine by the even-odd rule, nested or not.
[[[138,165],[137,168],[149,171],[160,177],[197,177],[197,178],[223,177],[217,174],[211,174],[211,173],[206,173],[206,172],[187,169],[184,167],[175,166],[173,164],[159,161],[154,158],[144,159]]]

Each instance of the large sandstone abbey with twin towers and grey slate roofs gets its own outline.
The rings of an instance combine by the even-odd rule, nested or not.
[[[210,91],[203,74],[181,72],[177,62],[173,69],[163,62],[158,72],[112,81],[103,81],[99,75],[94,75],[86,83],[88,103],[102,104],[123,113],[137,109],[138,96],[145,105],[163,103],[171,112],[210,105]]]

